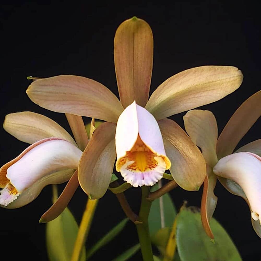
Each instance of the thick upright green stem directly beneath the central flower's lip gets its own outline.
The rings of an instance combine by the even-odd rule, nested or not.
[[[138,231],[143,260],[152,261],[153,253],[152,253],[149,224],[148,224],[148,216],[150,213],[151,201],[147,200],[147,197],[150,194],[150,187],[142,186],[141,191],[142,191],[142,196],[141,196],[139,218],[142,221],[142,223],[136,224],[136,227]]]

